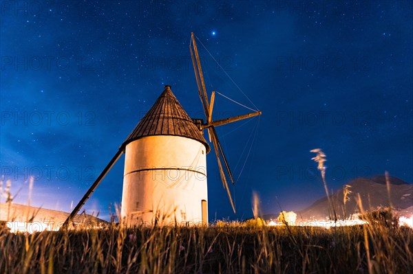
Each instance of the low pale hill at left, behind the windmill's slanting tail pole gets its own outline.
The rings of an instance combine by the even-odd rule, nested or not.
[[[9,215],[9,220],[8,220]],[[8,204],[0,203],[0,221],[19,221],[25,222],[54,222],[63,224],[69,213],[59,210],[44,209],[39,207],[29,207],[27,205],[12,204],[10,212]],[[94,223],[106,222],[89,214],[78,214],[73,220],[75,223],[83,223],[86,225]]]

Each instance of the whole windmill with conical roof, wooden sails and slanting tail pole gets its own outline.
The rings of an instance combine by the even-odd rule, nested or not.
[[[207,129],[209,141],[213,144],[222,184],[235,213],[227,176],[233,184],[234,180],[215,127],[261,115],[261,111],[213,121],[215,91],[208,98],[193,34],[189,46],[206,122],[203,119],[191,119],[173,95],[171,87],[165,86],[151,109],[74,207],[63,223],[63,228],[70,224],[123,153],[125,169],[121,216],[129,225],[207,224],[206,156],[211,149],[202,134],[204,129]]]

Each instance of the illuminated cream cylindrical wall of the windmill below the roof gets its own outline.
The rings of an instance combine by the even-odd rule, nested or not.
[[[127,144],[122,217],[129,225],[207,223],[206,156],[204,144],[186,137],[149,136]]]

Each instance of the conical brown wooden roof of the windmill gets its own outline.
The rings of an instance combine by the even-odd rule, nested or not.
[[[207,152],[210,150],[202,130],[195,126],[169,86],[165,86],[165,91],[132,130],[122,146],[125,148],[131,141],[156,135],[187,137],[200,141],[207,148]]]

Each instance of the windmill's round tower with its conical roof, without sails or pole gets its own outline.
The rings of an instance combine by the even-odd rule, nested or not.
[[[121,215],[129,225],[208,223],[209,146],[169,86],[123,147]]]

